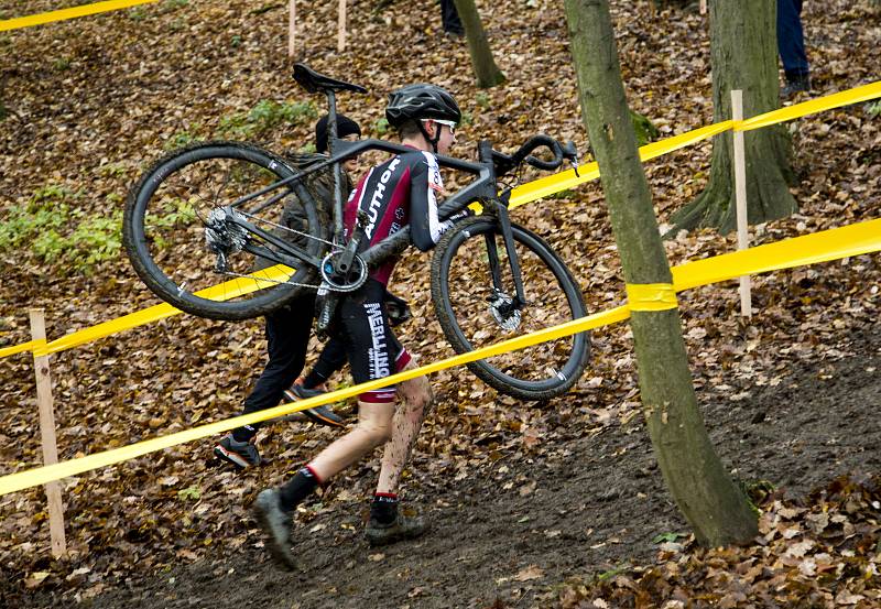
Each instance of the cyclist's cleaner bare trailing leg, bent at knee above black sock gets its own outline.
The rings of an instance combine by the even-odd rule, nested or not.
[[[388,442],[392,429],[394,403],[358,402],[358,425],[322,450],[309,467],[326,482],[350,465],[361,460],[377,446]]]

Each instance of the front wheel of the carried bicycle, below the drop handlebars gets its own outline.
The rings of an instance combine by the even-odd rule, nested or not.
[[[432,260],[432,297],[458,354],[586,315],[566,265],[537,235],[511,225],[525,304],[518,305],[511,264],[496,220],[469,218],[440,239]],[[540,342],[468,365],[490,387],[522,400],[565,393],[585,370],[589,333]]]

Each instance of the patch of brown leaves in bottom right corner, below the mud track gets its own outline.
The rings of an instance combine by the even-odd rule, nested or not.
[[[762,599],[791,606],[807,599],[825,606],[874,606],[881,601],[877,552],[881,524],[872,502],[881,497],[881,477],[867,483],[838,479],[815,497],[806,507],[781,500],[764,505],[760,529],[766,545],[692,548],[675,563],[662,550],[666,562],[660,567],[567,584],[561,603],[661,606],[671,590],[678,590],[683,599],[704,598],[729,608]],[[858,522],[851,522],[849,514]],[[858,528],[872,540],[868,546],[852,543]],[[807,530],[817,537],[807,536]]]

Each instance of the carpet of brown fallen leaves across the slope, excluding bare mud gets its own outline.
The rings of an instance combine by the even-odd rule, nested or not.
[[[25,3],[6,4],[12,7],[6,10],[18,10]],[[26,4],[55,8],[47,0]],[[260,99],[302,97],[290,81],[285,59],[272,53],[281,45],[284,23],[279,23],[283,20],[273,25],[269,19],[249,18],[250,7],[240,0],[206,0],[189,3],[207,11],[204,21],[196,21],[183,8],[185,3],[177,4],[177,14],[148,11],[140,22],[119,12],[0,37],[4,45],[0,72],[8,78],[4,91],[14,91],[2,101],[21,117],[0,122],[0,219],[9,205],[26,203],[32,193],[48,184],[81,193],[75,202],[84,213],[105,214],[118,205],[108,196],[123,196],[142,165],[176,137],[196,127],[211,132],[224,117],[247,110]],[[405,80],[422,79],[424,58],[395,56],[385,42],[372,43],[388,41],[388,25],[368,22],[358,11],[352,28],[362,34],[362,44],[357,51],[326,53],[333,47],[326,41],[334,37],[335,26],[327,12],[334,10],[330,4],[316,4],[301,15],[307,25],[303,44],[316,68],[370,85],[370,94],[357,102],[349,98],[340,102],[344,111],[368,126],[368,134],[377,135],[370,130],[381,113],[384,95]],[[395,14],[395,31],[406,31],[413,19],[427,22],[426,11],[436,11],[436,6],[423,4]],[[518,69],[507,70],[509,85],[485,93],[486,107],[475,102],[478,91],[470,83],[465,45],[435,45],[424,26],[414,30],[417,44],[429,50],[425,56],[443,58],[444,69],[432,70],[432,77],[458,94],[472,119],[460,130],[457,155],[472,159],[476,142],[483,137],[510,151],[539,130],[575,139],[581,151],[587,150],[562,9],[547,2],[541,11],[523,14],[520,9],[508,2],[493,8],[490,34],[498,41],[493,44],[497,61],[502,69],[505,65]],[[659,21],[646,14],[641,2],[613,9],[634,109],[664,133],[708,122],[706,22],[678,13]],[[845,10],[862,17],[844,21],[839,17]],[[873,31],[860,24],[868,21],[867,14],[864,8],[839,0],[806,20],[806,26],[822,32],[814,36],[816,46],[811,50],[823,66],[820,93],[877,78],[877,41],[871,39]],[[174,20],[183,18],[195,29],[174,30]],[[209,34],[206,23],[224,26]],[[238,42],[229,35],[230,30],[243,32]],[[499,31],[504,36],[499,36]],[[74,32],[76,35],[66,35]],[[59,35],[65,40],[61,47],[56,43]],[[65,95],[58,96],[58,90]],[[877,120],[862,118],[861,112],[855,106],[797,123],[794,139],[800,180],[795,192],[801,214],[754,227],[753,242],[878,217],[881,133]],[[296,124],[268,133],[264,143],[283,151],[297,149],[309,139],[309,128]],[[708,150],[708,145],[694,146],[646,164],[662,222],[706,184]],[[547,238],[566,260],[590,312],[621,304],[621,264],[597,184],[566,198],[533,204],[513,216]],[[674,264],[732,251],[733,247],[732,239],[711,231],[685,233],[665,243]],[[415,346],[427,361],[452,350],[431,311],[426,262],[424,254],[407,253],[392,287],[409,294],[421,320],[402,328],[402,341]],[[0,344],[29,339],[24,314],[29,306],[47,309],[50,336],[57,337],[155,304],[122,259],[101,267],[95,276],[61,280],[54,275],[29,251],[0,252]],[[877,257],[758,278],[753,292],[757,316],[751,324],[738,319],[733,284],[682,294],[685,338],[701,400],[744,407],[760,388],[786,387],[793,362],[846,357],[847,349],[835,345],[836,337],[879,317],[878,294]],[[62,457],[85,456],[238,414],[264,358],[261,336],[259,322],[231,325],[177,317],[53,356]],[[632,425],[639,421],[641,407],[631,341],[626,325],[596,331],[586,377],[569,394],[548,404],[500,396],[463,369],[436,374],[436,411],[415,450],[422,472],[411,481],[422,483],[431,498],[435,492],[444,494],[445,487],[437,480],[463,483],[486,472],[486,483],[497,485],[494,488],[513,501],[527,504],[539,487],[524,472],[543,459],[559,456],[569,441],[639,431]],[[828,377],[825,382],[835,381],[830,374],[824,376]],[[0,463],[4,472],[34,467],[41,456],[30,362],[24,357],[4,360],[0,379],[8,423],[0,429]],[[749,383],[749,391],[742,389],[743,382]],[[801,390],[793,388],[793,400]],[[773,410],[754,418],[755,424],[765,416],[773,417]],[[326,429],[276,425],[263,435],[261,450],[281,464],[270,466],[271,476],[281,477],[289,464],[303,460],[334,437]],[[644,443],[643,438],[634,444],[642,449]],[[222,539],[228,548],[243,546],[253,536],[246,507],[269,476],[242,479],[210,469],[205,455],[211,448],[209,438],[66,480],[67,516],[76,523],[68,531],[74,558],[67,566],[44,564],[48,544],[42,490],[17,493],[0,508],[3,569],[20,575],[30,589],[55,587],[90,598],[104,590],[102,577],[134,578],[174,566],[177,559],[211,555],[214,550],[204,544],[206,540]],[[489,467],[500,459],[505,465]],[[368,461],[365,467],[376,465]],[[600,467],[616,464],[607,460]],[[362,471],[345,477],[322,498],[322,507],[300,518],[315,534],[337,531],[336,526],[325,528],[324,521],[314,522],[319,511],[351,509],[369,496],[371,482],[372,477]],[[868,503],[855,491],[849,502],[841,504],[826,498],[812,508],[783,502],[764,507],[761,543],[743,553],[705,554],[682,540],[664,542],[659,553],[666,563],[654,570],[646,567],[608,578],[590,588],[601,598],[584,602],[619,607],[618,600],[628,598],[643,607],[674,607],[684,600],[668,597],[689,590],[717,598],[720,607],[743,603],[743,598],[773,606],[792,597],[808,598],[816,605],[878,605],[878,558],[877,552],[872,553],[878,535],[872,519],[878,520],[881,497],[866,492],[873,498]],[[607,505],[629,499],[608,498]],[[524,510],[518,524],[535,520]],[[355,535],[358,529],[358,524],[345,523],[339,531]],[[572,543],[558,531],[542,531],[541,539]],[[610,548],[619,555],[629,551],[614,537],[591,541],[596,542],[594,555],[602,551],[607,556]],[[99,550],[110,559],[96,558]],[[370,556],[371,562],[385,559],[383,554]],[[531,565],[512,578],[521,581],[516,577],[541,572],[542,565]],[[556,580],[565,575],[546,569],[522,581],[550,583],[552,576]],[[840,587],[835,594],[834,586]],[[559,598],[566,607],[578,606],[588,598],[588,588],[564,588]]]

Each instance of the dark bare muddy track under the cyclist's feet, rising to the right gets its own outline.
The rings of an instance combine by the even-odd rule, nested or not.
[[[700,392],[713,441],[740,479],[770,480],[800,498],[839,475],[879,471],[879,330],[839,336],[838,361],[783,356],[788,374],[775,388],[732,381]],[[354,503],[297,528],[296,573],[270,563],[254,529],[238,550],[218,547],[213,559],[132,578],[86,606],[545,607],[567,577],[651,564],[653,539],[687,532],[641,417],[592,436],[573,433],[562,448],[548,460],[502,459],[460,481],[420,481],[409,498],[433,531],[416,542],[368,547]]]

